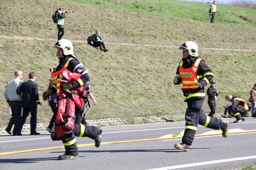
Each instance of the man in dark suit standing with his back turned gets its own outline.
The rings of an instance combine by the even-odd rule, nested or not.
[[[36,114],[37,114],[37,105],[42,106],[42,103],[39,101],[38,95],[38,85],[34,83],[36,79],[36,75],[34,72],[29,74],[30,80],[27,82],[23,82],[16,90],[17,94],[22,95],[21,99],[21,107],[22,107],[22,116],[18,121],[18,132],[13,133],[13,135],[21,135],[22,127],[28,117],[29,113],[31,113],[30,119],[30,135],[39,135],[35,131],[36,129]]]

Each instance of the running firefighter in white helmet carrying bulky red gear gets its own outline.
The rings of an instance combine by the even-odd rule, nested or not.
[[[99,147],[102,129],[95,126],[75,124],[76,114],[81,114],[84,100],[87,100],[86,88],[89,82],[87,69],[74,56],[73,45],[67,39],[59,40],[54,47],[58,49],[59,65],[52,69],[50,81],[54,83],[47,91],[43,92],[43,99],[57,93],[58,113],[55,119],[53,141],[62,140],[65,146],[64,155],[59,160],[70,160],[78,156],[76,136],[89,137],[95,140]]]

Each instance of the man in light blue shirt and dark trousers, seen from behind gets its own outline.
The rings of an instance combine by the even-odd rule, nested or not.
[[[22,84],[23,73],[20,70],[15,72],[15,79],[7,83],[5,90],[3,91],[3,96],[11,108],[11,118],[6,127],[5,131],[12,135],[11,128],[14,124],[13,133],[16,131],[17,125],[16,121],[21,117],[21,95],[16,93],[18,86]]]

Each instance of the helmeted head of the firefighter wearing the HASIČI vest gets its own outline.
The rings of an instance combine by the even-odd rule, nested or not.
[[[179,50],[183,50],[182,58],[198,57],[198,46],[193,41],[187,41],[179,47]]]

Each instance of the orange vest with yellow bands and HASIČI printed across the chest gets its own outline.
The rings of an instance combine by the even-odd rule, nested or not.
[[[181,89],[195,89],[199,87],[196,70],[201,60],[202,59],[196,59],[194,65],[190,68],[183,68],[183,61],[180,61],[179,74],[182,81]]]

